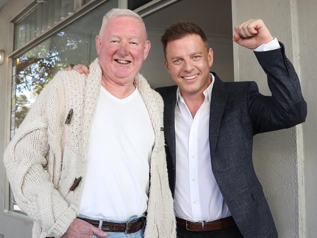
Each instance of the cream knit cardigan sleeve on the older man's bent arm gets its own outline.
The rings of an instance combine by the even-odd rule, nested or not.
[[[52,81],[57,80],[56,77]],[[53,82],[42,90],[32,105],[9,143],[3,162],[21,210],[40,224],[44,237],[58,238],[66,232],[77,212],[54,188],[50,174],[44,170],[50,147],[46,111],[55,108],[47,108],[50,95],[58,95]]]

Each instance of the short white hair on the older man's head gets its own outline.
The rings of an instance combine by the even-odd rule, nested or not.
[[[103,16],[102,24],[101,24],[100,31],[99,31],[100,37],[101,37],[102,31],[105,28],[108,20],[115,19],[118,17],[131,17],[131,18],[138,19],[144,28],[145,39],[147,39],[147,34],[146,34],[146,29],[145,29],[145,24],[143,22],[143,19],[134,11],[131,11],[129,9],[120,9],[120,8],[112,8],[109,12],[106,13],[106,15]]]

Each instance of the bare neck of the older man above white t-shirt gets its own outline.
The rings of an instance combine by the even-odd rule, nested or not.
[[[119,99],[126,98],[134,92],[136,86],[133,84],[133,82],[134,80],[127,84],[119,85],[114,81],[108,79],[102,72],[101,86]]]

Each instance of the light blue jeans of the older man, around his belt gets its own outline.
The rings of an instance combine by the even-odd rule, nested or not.
[[[145,215],[142,215],[142,216],[139,216],[139,217],[130,216],[126,220],[117,221],[117,220],[107,220],[107,219],[95,219],[95,218],[91,218],[91,217],[88,217],[88,216],[79,215],[79,217],[81,217],[81,218],[87,218],[87,219],[91,219],[91,220],[99,220],[99,227],[98,227],[99,229],[101,229],[103,221],[109,221],[109,222],[115,222],[115,223],[125,223],[125,222],[128,222],[128,221],[138,220],[140,217],[143,217],[143,216],[145,216]],[[108,234],[107,238],[143,238],[143,233],[144,233],[144,227],[141,230],[139,230],[138,232],[131,233],[131,234],[124,234],[124,232],[107,232],[107,234]],[[92,238],[99,238],[99,237],[93,235]]]

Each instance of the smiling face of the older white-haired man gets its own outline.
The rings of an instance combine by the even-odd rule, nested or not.
[[[96,37],[99,64],[106,80],[124,86],[131,84],[150,50],[142,23],[132,17],[109,20]]]

